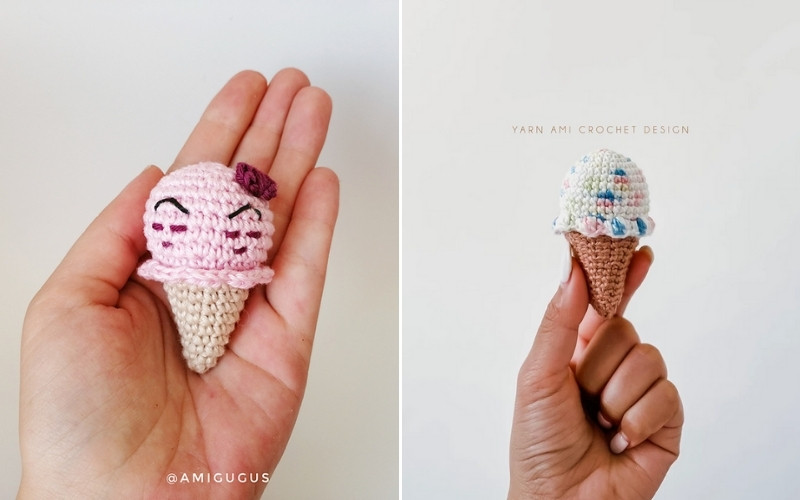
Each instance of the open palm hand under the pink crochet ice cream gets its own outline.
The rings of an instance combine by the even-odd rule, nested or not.
[[[330,112],[327,94],[298,70],[269,85],[239,73],[170,169],[244,161],[279,186],[275,277],[251,291],[206,374],[187,369],[161,284],[135,274],[160,170],[142,172],[76,242],[23,327],[21,497],[261,494],[302,401],[338,210],[336,176],[314,168]]]

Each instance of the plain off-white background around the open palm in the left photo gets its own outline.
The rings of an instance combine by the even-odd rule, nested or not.
[[[265,498],[394,496],[397,2],[7,1],[2,11],[0,497],[13,498],[20,475],[28,301],[131,178],[169,166],[228,78],[285,66],[333,98],[320,163],[341,178],[341,211],[306,398]]]

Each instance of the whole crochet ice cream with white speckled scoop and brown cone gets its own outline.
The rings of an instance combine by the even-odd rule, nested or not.
[[[642,171],[619,153],[584,155],[564,178],[553,228],[569,241],[589,282],[589,302],[601,316],[617,312],[639,238],[655,227],[649,211]]]

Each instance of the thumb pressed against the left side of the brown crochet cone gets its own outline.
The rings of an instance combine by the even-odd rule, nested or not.
[[[526,361],[542,376],[562,373],[569,367],[578,341],[578,326],[589,307],[589,293],[580,265],[571,257],[569,263],[569,276],[547,305]]]

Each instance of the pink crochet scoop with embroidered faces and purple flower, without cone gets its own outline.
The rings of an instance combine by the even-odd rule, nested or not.
[[[139,275],[164,283],[249,289],[269,283],[275,183],[245,163],[181,168],[153,188],[144,214],[152,259]]]

